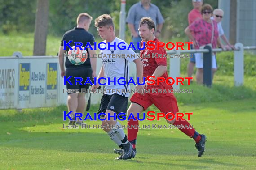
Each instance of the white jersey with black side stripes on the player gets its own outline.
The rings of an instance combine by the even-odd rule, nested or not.
[[[106,41],[104,41],[106,43]],[[127,85],[128,80],[129,80],[129,63],[132,62],[133,60],[137,59],[136,57],[136,53],[132,50],[133,48],[130,48],[129,50],[127,50],[128,48],[128,44],[125,43],[124,44],[120,44],[120,48],[122,48],[123,46],[126,46],[126,49],[124,50],[120,50],[118,48],[118,43],[123,42],[125,43],[124,40],[120,39],[120,38],[115,38],[112,42],[110,42],[110,47],[108,48],[108,44],[101,44],[100,47],[101,48],[105,48],[105,50],[101,50],[100,54],[102,55],[102,65],[104,68],[104,77],[106,78],[106,85],[105,85],[105,89],[106,89],[106,93],[104,94],[119,94],[121,96],[124,97],[129,97],[129,93],[122,93],[126,92],[127,90],[130,91],[130,85]],[[115,43],[115,50],[114,50],[114,45]],[[111,47],[112,45],[112,47]],[[110,50],[108,50],[110,49]],[[119,56],[123,56],[124,57],[119,57]],[[105,56],[105,57],[104,57]],[[108,77],[110,79],[110,82],[108,82]],[[124,77],[126,80],[126,84],[125,85],[119,85],[118,84],[118,79],[120,77]],[[114,85],[114,81],[116,82],[116,85]],[[120,83],[123,83],[124,79],[120,79]],[[134,80],[136,83],[136,80]],[[108,85],[109,84],[109,85]],[[119,91],[121,93],[119,93]]]

